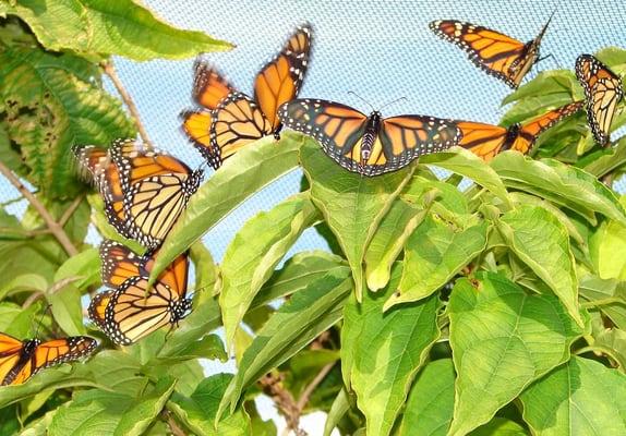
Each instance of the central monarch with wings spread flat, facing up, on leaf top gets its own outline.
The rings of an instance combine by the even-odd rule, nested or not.
[[[406,167],[429,153],[456,145],[460,132],[452,120],[424,116],[369,116],[334,101],[297,99],[278,114],[286,128],[305,133],[349,171],[377,175]]]

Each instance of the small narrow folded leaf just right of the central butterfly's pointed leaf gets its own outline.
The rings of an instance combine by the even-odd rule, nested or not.
[[[365,251],[365,277],[370,290],[377,291],[387,284],[392,265],[426,213],[428,209],[400,198],[392,204]]]

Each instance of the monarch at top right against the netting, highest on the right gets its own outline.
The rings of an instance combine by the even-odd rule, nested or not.
[[[456,20],[433,21],[430,28],[442,39],[467,51],[477,66],[516,89],[539,60],[541,39],[551,20],[552,16],[539,35],[526,44],[490,28]]]

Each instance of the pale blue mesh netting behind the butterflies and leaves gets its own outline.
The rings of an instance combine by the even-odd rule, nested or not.
[[[465,20],[526,41],[539,33],[556,7],[541,47],[542,56],[552,58],[540,62],[529,77],[543,69],[573,69],[583,52],[593,53],[611,45],[626,47],[626,4],[611,0],[564,1],[558,5],[546,1],[329,0],[145,0],[144,4],[174,26],[234,43],[232,51],[206,58],[245,93],[251,93],[258,68],[278,50],[293,25],[309,21],[314,25],[315,40],[300,96],[333,99],[365,112],[370,108],[349,90],[374,107],[406,97],[384,110],[387,117],[420,113],[497,123],[503,113],[499,102],[510,89],[474,68],[457,47],[435,37],[428,27],[433,20]],[[181,110],[192,106],[193,59],[116,62],[153,142],[191,167],[198,166],[202,159],[181,133],[178,118]],[[107,86],[115,94],[112,86]],[[300,178],[300,171],[284,177],[213,229],[204,241],[216,261],[250,217],[298,192]],[[626,184],[617,189],[624,192]],[[17,196],[5,181],[0,182],[1,202]],[[24,207],[24,202],[13,203],[9,211],[20,213]],[[97,242],[95,232],[91,238]],[[309,230],[292,252],[325,246]],[[208,367],[210,372],[222,368],[214,363]],[[232,365],[227,368],[232,370]]]

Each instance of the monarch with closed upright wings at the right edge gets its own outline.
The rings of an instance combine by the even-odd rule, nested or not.
[[[591,55],[576,59],[576,76],[585,89],[587,121],[595,142],[604,147],[617,104],[624,98],[622,80]]]

